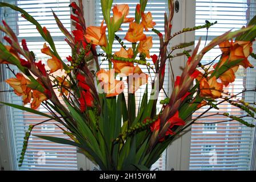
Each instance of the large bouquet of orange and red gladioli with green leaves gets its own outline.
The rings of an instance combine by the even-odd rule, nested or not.
[[[173,80],[173,91],[161,100],[161,111],[157,113],[159,91],[163,90],[165,67],[172,59],[174,49],[183,49],[191,43],[181,43],[170,47],[171,40],[188,31],[209,28],[215,23],[206,21],[204,26],[183,28],[172,32],[174,2],[169,0],[169,13],[165,13],[165,33],[161,34],[154,28],[155,22],[150,12],[145,12],[146,0],[140,0],[134,18],[128,18],[128,5],[113,5],[113,0],[102,0],[103,21],[101,26],[86,27],[82,0],[71,3],[71,21],[75,30],[66,30],[58,16],[53,12],[59,29],[66,36],[66,43],[72,50],[66,60],[62,60],[55,47],[53,38],[46,27],[42,27],[33,16],[25,10],[8,3],[0,3],[1,7],[10,7],[21,13],[23,18],[33,23],[45,40],[41,52],[48,55],[47,65],[36,60],[29,50],[26,40],[18,42],[13,30],[3,21],[0,30],[5,33],[5,44],[0,42],[0,63],[7,69],[14,65],[19,69],[13,78],[6,80],[15,94],[22,96],[23,104],[30,107],[3,103],[34,114],[42,115],[49,122],[57,121],[59,129],[70,139],[36,135],[39,138],[56,143],[75,146],[97,164],[102,170],[147,170],[159,159],[162,152],[183,131],[197,122],[210,109],[218,109],[223,102],[244,110],[243,117],[254,117],[254,103],[239,100],[236,95],[223,92],[235,79],[238,67],[253,67],[249,56],[256,57],[252,52],[252,44],[256,36],[256,17],[247,27],[237,31],[228,31],[211,41],[199,52],[201,41],[194,51],[182,52],[187,63],[181,76]],[[113,15],[111,15],[111,11]],[[116,32],[122,31],[121,25],[129,23],[124,44]],[[145,31],[152,31],[159,38],[159,54],[151,55],[153,47],[151,36]],[[72,35],[73,34],[73,35]],[[119,43],[119,51],[113,52],[113,43]],[[219,46],[222,55],[216,64],[211,62],[202,65],[202,57],[211,49]],[[103,53],[98,53],[99,48]],[[99,57],[108,63],[108,69],[102,69]],[[185,57],[185,56],[184,56]],[[150,64],[149,61],[153,61]],[[95,68],[91,67],[95,65]],[[143,73],[141,66],[149,72]],[[58,76],[56,71],[62,71]],[[154,77],[151,73],[154,73]],[[151,81],[149,82],[149,79]],[[136,91],[146,85],[141,100],[135,97]],[[150,86],[150,90],[147,85]],[[255,90],[243,90],[255,92]],[[49,114],[37,108],[43,105]],[[191,115],[202,106],[208,109],[197,118]],[[216,113],[231,120],[254,127],[243,117],[235,117],[229,113]],[[210,115],[213,116],[213,115]],[[36,125],[30,125],[26,132],[23,150],[19,159],[22,165],[27,142],[31,131]]]

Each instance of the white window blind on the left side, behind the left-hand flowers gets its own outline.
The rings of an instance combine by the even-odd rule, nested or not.
[[[51,9],[55,11],[63,25],[67,28],[67,30],[70,31],[70,0],[6,0],[5,2],[21,7],[22,9],[26,10],[27,13],[34,16],[34,18],[38,20],[42,26],[45,26],[50,31],[51,36],[53,36],[55,46],[57,47],[62,60],[66,60],[66,56],[71,54],[71,50],[64,41],[65,37],[55,23]],[[9,26],[13,28],[16,35],[18,35],[18,39],[20,41],[22,39],[26,39],[27,46],[29,47],[30,51],[35,53],[36,59],[42,60],[42,62],[46,64],[49,57],[41,53],[41,48],[43,47],[43,43],[45,43],[45,41],[37,32],[35,26],[22,18],[21,14],[9,8],[3,9],[3,16]],[[17,72],[17,70],[15,70],[15,72]],[[11,75],[10,72],[8,72],[7,75],[8,77],[14,77],[14,75]],[[14,92],[7,94],[7,97],[9,98],[9,102],[22,105],[21,98],[16,96]],[[29,105],[27,106],[29,107]],[[39,110],[47,113],[47,110],[43,106],[40,106]],[[13,108],[10,108],[9,114],[13,129],[13,140],[16,154],[15,158],[18,159],[22,150],[23,137],[25,136],[25,132],[29,128],[29,125],[34,125],[45,121],[46,118]],[[53,137],[67,138],[62,134],[62,130],[60,130],[55,124],[58,123],[46,122],[43,125],[38,125],[34,128],[29,139],[27,152],[25,159],[23,160],[23,166],[17,166],[17,169],[77,170],[77,150],[75,147],[52,143],[33,136],[49,135]]]

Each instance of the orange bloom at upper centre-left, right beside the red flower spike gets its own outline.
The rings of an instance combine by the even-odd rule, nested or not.
[[[85,39],[88,43],[106,47],[106,26],[103,26],[103,21],[100,27],[90,26],[86,28]]]

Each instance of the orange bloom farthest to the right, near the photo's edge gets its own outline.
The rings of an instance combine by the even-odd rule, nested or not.
[[[242,65],[244,68],[253,67],[247,59],[253,51],[252,46],[253,43],[248,41],[234,42],[230,50],[230,61],[243,59],[239,65]]]

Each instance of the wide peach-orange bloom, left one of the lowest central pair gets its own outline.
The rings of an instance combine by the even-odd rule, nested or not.
[[[105,71],[105,69],[101,69],[97,73],[97,77],[101,86],[103,87],[104,92],[106,93],[106,97],[117,96],[123,92],[125,85],[123,81],[115,80],[115,72],[114,69],[109,71]]]

